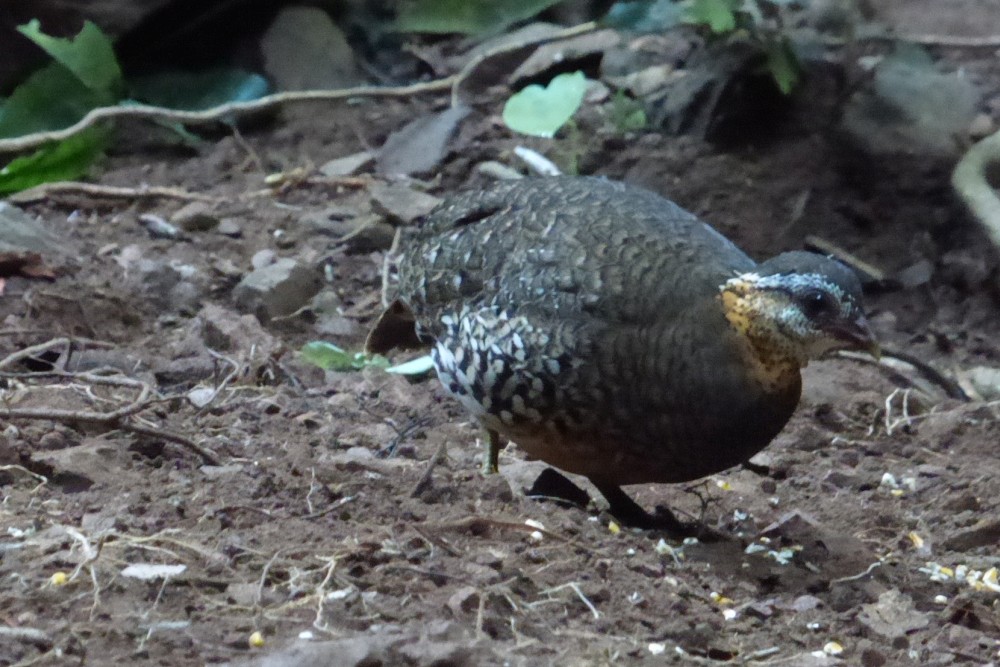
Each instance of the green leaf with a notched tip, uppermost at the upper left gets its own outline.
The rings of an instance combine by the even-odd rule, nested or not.
[[[17,29],[90,90],[116,93],[121,88],[122,70],[111,40],[90,21],[84,22],[83,29],[73,39],[46,35],[41,31],[38,19],[32,19]]]

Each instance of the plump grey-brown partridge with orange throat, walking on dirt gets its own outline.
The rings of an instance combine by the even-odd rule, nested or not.
[[[844,265],[760,264],[659,195],[600,178],[500,182],[405,230],[368,349],[432,346],[442,384],[489,433],[585,475],[627,525],[620,488],[746,462],[784,427],[800,369],[877,351]],[[397,275],[392,275],[392,274]]]

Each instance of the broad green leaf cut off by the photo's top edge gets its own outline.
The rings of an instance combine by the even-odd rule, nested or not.
[[[395,27],[400,32],[495,33],[560,1],[408,0],[400,5]]]

